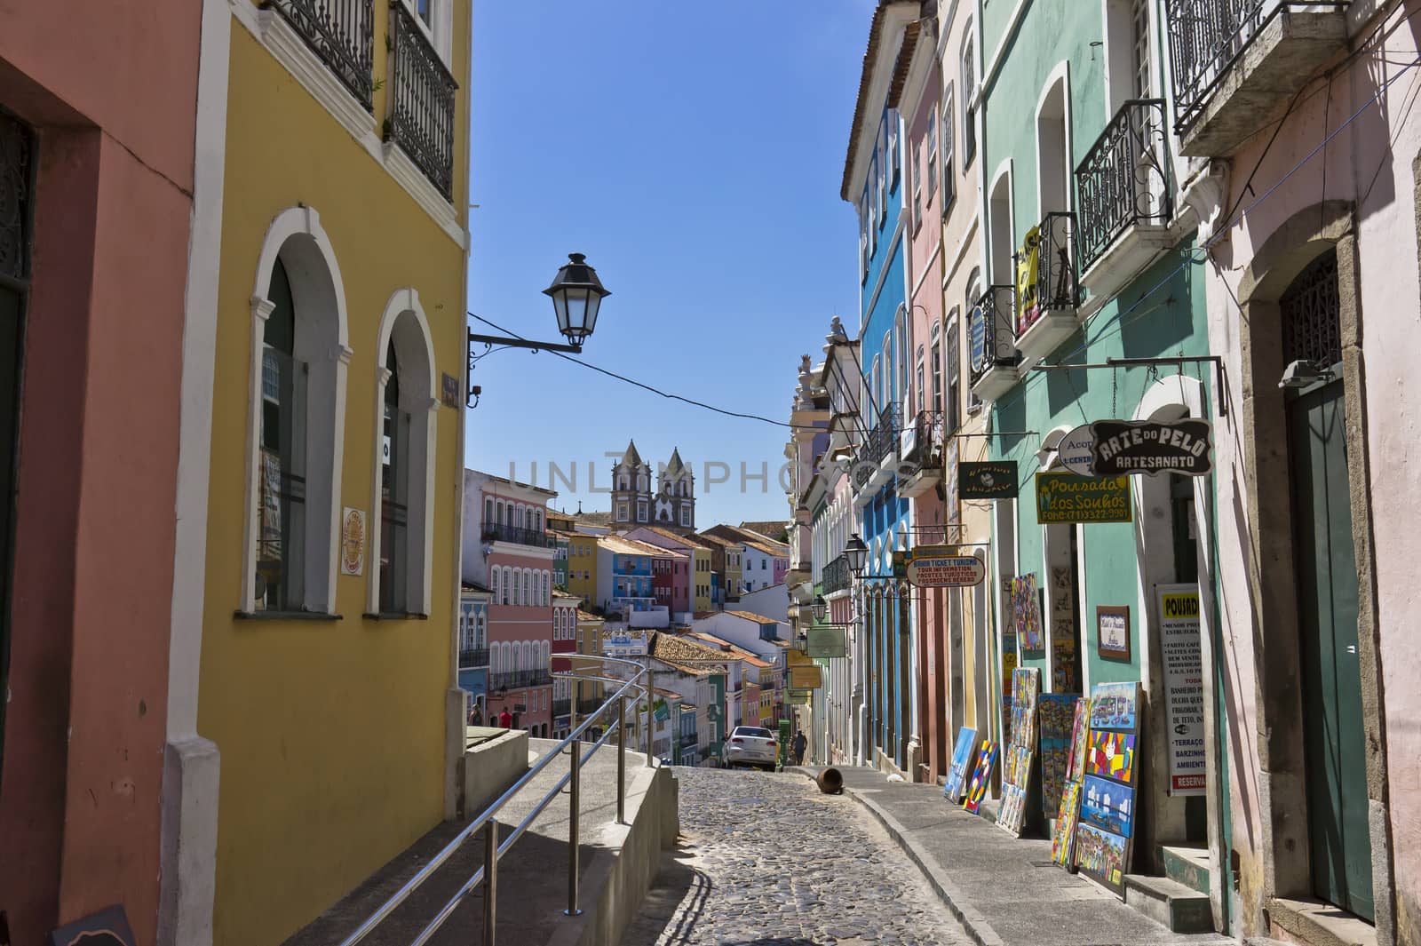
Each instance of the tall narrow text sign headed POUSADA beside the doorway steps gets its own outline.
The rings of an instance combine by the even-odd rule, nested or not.
[[[1155,585],[1160,605],[1160,652],[1164,659],[1165,710],[1169,723],[1169,794],[1202,795],[1204,651],[1199,635],[1199,587]]]

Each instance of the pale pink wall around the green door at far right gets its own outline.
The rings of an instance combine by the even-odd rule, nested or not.
[[[1391,23],[1414,17],[1418,11],[1421,3],[1407,3],[1393,14]],[[1415,418],[1421,416],[1421,378],[1415,371],[1421,290],[1414,200],[1418,180],[1412,162],[1421,156],[1421,122],[1407,99],[1408,92],[1414,94],[1414,74],[1410,78],[1403,75],[1380,107],[1363,111],[1331,139],[1324,153],[1260,199],[1317,148],[1327,131],[1336,131],[1347,116],[1361,109],[1377,91],[1378,81],[1397,75],[1403,71],[1401,64],[1415,60],[1412,28],[1403,23],[1400,30],[1394,30],[1385,54],[1391,65],[1384,65],[1378,55],[1363,55],[1340,72],[1331,84],[1330,107],[1322,92],[1302,99],[1266,153],[1268,135],[1260,135],[1233,156],[1225,203],[1232,206],[1239,202],[1246,217],[1214,251],[1208,298],[1211,347],[1223,355],[1231,396],[1238,403],[1245,393],[1241,388],[1242,338],[1231,291],[1238,291],[1255,249],[1285,220],[1317,206],[1324,197],[1356,202],[1397,942],[1417,943],[1421,942],[1421,727],[1415,720],[1421,719],[1421,663],[1415,660],[1414,619],[1421,612],[1415,578],[1415,562],[1421,561],[1421,533],[1414,523],[1417,496],[1421,496],[1421,452],[1415,429]],[[1324,82],[1314,82],[1310,88],[1324,87]],[[1258,170],[1252,187],[1245,193],[1245,179],[1255,165]],[[1256,379],[1256,384],[1270,382]],[[1269,720],[1259,719],[1255,702],[1255,662],[1266,659],[1266,655],[1255,648],[1246,581],[1255,553],[1246,521],[1243,460],[1252,445],[1239,437],[1238,420],[1239,415],[1233,413],[1216,425],[1215,456],[1219,459],[1218,574],[1231,734],[1229,794],[1233,847],[1242,855],[1243,919],[1249,922],[1260,906],[1258,896],[1266,858],[1262,821],[1268,812],[1258,773],[1259,734],[1268,730]]]

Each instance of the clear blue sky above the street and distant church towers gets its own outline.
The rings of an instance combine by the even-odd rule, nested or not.
[[[567,253],[585,253],[612,295],[584,359],[787,422],[800,354],[821,357],[831,315],[858,324],[857,232],[838,189],[871,10],[476,3],[469,308],[554,339],[540,290]],[[473,382],[483,398],[468,415],[468,464],[507,476],[513,463],[527,480],[537,463],[549,486],[556,463],[576,476],[576,490],[554,483],[558,507],[607,510],[593,491],[610,483],[605,453],[635,437],[652,464],[674,446],[693,464],[699,527],[789,514],[786,428],[547,352],[493,354]]]

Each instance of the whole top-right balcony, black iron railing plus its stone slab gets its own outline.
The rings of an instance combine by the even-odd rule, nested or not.
[[[1233,92],[1243,92],[1232,109],[1236,115],[1221,124],[1232,128],[1209,129],[1206,136],[1216,146],[1201,142],[1206,146],[1195,151],[1187,145],[1185,153],[1226,153],[1229,145],[1222,142],[1236,143],[1252,134],[1272,102],[1292,95],[1316,65],[1340,48],[1346,9],[1346,1],[1165,0],[1174,122],[1181,135],[1211,111],[1211,99],[1235,67],[1246,72],[1238,81],[1229,80]],[[1250,53],[1275,23],[1268,48]]]

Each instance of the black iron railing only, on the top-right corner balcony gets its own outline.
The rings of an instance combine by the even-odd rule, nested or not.
[[[1219,81],[1229,74],[1263,24],[1289,10],[1346,10],[1347,3],[1313,0],[1165,0],[1169,24],[1174,125],[1184,131],[1208,105]]]

